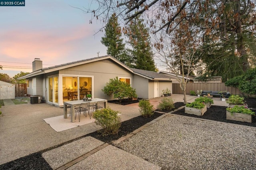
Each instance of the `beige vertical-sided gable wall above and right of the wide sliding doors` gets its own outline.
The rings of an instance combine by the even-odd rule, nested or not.
[[[109,82],[110,78],[118,77],[130,77],[132,87],[134,86],[134,78],[132,72],[124,69],[122,66],[116,64],[112,60],[102,60],[92,63],[82,64],[60,70],[61,76],[90,76],[92,77],[92,97],[104,98],[107,100],[113,100],[112,96],[107,96],[102,92],[102,89]],[[59,77],[59,79],[61,79]],[[62,81],[62,80],[61,80]]]

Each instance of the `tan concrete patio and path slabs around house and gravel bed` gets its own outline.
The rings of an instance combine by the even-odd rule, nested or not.
[[[173,94],[170,97],[174,102],[183,102],[183,95]],[[195,98],[198,98],[189,95],[186,95],[186,97],[188,102],[193,102]],[[227,106],[226,102],[221,102],[219,98],[213,99],[214,105]],[[156,108],[161,100],[162,98],[155,98],[150,102]],[[45,103],[8,105],[4,101],[4,104],[5,106],[0,108],[2,111],[2,116],[0,117],[0,164],[98,130],[95,123],[90,123],[66,131],[56,132],[42,119],[63,115],[63,109]],[[126,106],[108,103],[108,106],[121,112],[122,121],[140,115],[138,103]],[[165,114],[162,117],[164,116]],[[116,143],[136,134],[141,129],[158,121],[158,119],[144,125],[126,137],[118,139]],[[92,137],[82,138],[62,147],[49,150],[43,156],[53,169],[161,169],[161,167],[142,158],[138,158],[107,143],[102,143],[97,139],[92,139]]]

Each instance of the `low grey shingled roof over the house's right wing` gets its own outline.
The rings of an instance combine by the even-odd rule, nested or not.
[[[154,71],[148,71],[148,70],[140,70],[136,68],[131,68],[133,70],[133,73],[139,76],[142,76],[144,78],[148,78],[150,80],[172,80],[170,76],[166,76],[164,74],[159,74]]]

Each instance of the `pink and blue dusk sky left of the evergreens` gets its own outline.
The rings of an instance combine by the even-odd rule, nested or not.
[[[43,67],[106,55],[97,33],[101,23],[89,24],[91,0],[25,0],[25,6],[0,6],[0,65],[10,77],[32,72],[32,61]],[[27,64],[21,64],[27,63]],[[23,68],[7,68],[22,66]]]

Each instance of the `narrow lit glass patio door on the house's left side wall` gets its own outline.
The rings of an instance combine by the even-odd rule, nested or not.
[[[58,76],[48,77],[48,101],[58,104]]]

